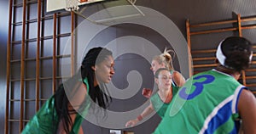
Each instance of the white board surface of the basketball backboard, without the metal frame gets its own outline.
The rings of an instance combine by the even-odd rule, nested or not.
[[[58,11],[66,8],[66,3],[69,0],[47,0],[46,2],[46,12]],[[73,2],[77,1],[79,5],[89,4],[89,3],[97,3],[105,0],[73,0]]]

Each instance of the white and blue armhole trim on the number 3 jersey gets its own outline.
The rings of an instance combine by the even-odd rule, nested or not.
[[[241,95],[241,91],[242,90],[247,90],[247,87],[244,87],[242,85],[240,85],[239,87],[236,88],[236,91],[234,93],[234,99],[233,99],[233,102],[232,102],[232,114],[236,114],[238,113],[238,101],[239,101],[239,98],[240,98],[240,95]]]

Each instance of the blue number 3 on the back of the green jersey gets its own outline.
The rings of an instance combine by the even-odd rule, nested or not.
[[[196,96],[198,96],[202,92],[205,84],[209,84],[212,81],[214,81],[214,79],[215,79],[214,76],[212,76],[212,75],[199,75],[199,76],[196,76],[194,78],[194,80],[199,80],[201,78],[206,78],[206,80],[193,83],[193,86],[195,86],[194,92],[190,92],[190,94],[187,94],[186,93],[187,87],[183,87],[181,89],[181,91],[178,93],[178,95],[181,98],[187,99],[187,100],[195,98]],[[189,90],[191,90],[191,89],[189,89]]]

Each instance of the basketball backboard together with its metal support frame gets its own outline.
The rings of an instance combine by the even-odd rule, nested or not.
[[[80,7],[80,11],[78,8],[68,9],[67,7],[71,7],[68,3],[75,3],[76,7]],[[109,2],[109,3],[102,3]],[[87,16],[84,16],[82,9],[84,5],[90,3],[102,3],[105,13],[102,14],[102,18],[97,18],[96,20],[90,20]],[[47,12],[56,12],[60,10],[66,9],[67,11],[73,10],[75,14],[78,14],[80,17],[83,17],[85,20],[89,20],[92,23],[102,24],[106,22],[111,22],[113,20],[122,20],[137,16],[144,16],[143,12],[137,8],[135,5],[136,0],[47,0]],[[113,6],[125,6],[124,8],[111,8]],[[120,12],[121,11],[121,12]]]

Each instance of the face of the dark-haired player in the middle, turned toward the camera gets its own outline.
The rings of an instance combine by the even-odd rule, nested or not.
[[[170,89],[172,87],[172,74],[170,73],[170,71],[168,70],[160,71],[160,74],[158,75],[156,83],[158,84],[158,88],[160,90]]]

